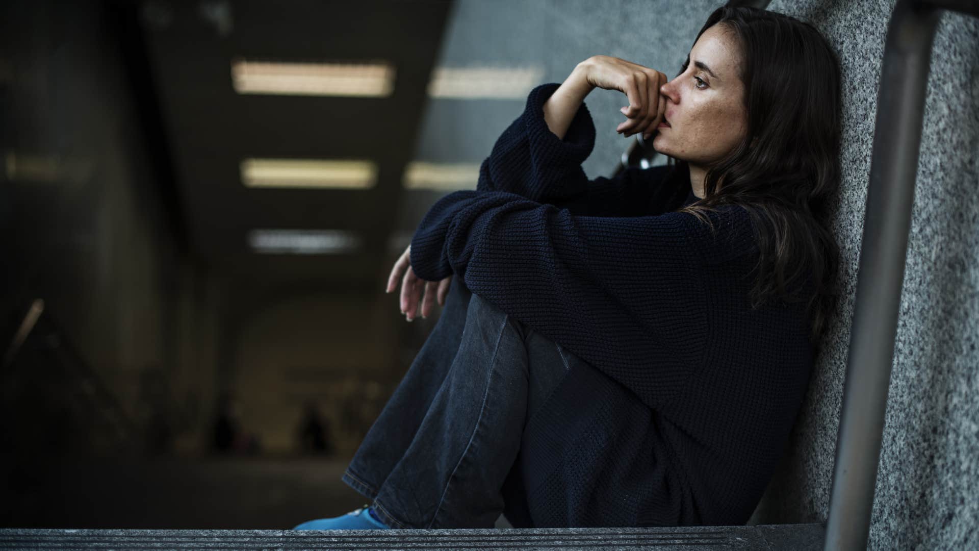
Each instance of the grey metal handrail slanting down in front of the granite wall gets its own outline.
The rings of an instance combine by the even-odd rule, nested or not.
[[[968,0],[898,0],[884,46],[873,151],[824,549],[865,549],[880,462],[908,253],[931,48],[941,9]]]

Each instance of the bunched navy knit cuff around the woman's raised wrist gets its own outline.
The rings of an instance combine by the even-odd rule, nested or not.
[[[587,106],[582,102],[564,134],[564,139],[558,138],[547,127],[547,122],[544,121],[544,103],[559,86],[556,82],[550,82],[531,90],[523,115],[527,135],[532,143],[531,150],[544,153],[542,158],[548,164],[560,167],[578,166],[588,158],[595,146],[595,125]]]

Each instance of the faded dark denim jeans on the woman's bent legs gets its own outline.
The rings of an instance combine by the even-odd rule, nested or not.
[[[521,436],[580,359],[452,278],[442,316],[343,476],[395,528],[533,527]]]

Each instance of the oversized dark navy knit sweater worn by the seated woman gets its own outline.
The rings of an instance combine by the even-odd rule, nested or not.
[[[557,86],[531,92],[477,189],[444,196],[411,241],[419,277],[462,277],[587,363],[528,420],[527,499],[510,521],[743,525],[806,391],[808,322],[751,309],[758,251],[740,207],[713,213],[712,233],[673,212],[696,197],[671,192],[666,167],[589,181],[587,108],[563,140],[543,120]]]

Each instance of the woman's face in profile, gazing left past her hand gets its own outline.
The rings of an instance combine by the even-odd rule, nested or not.
[[[747,131],[740,64],[733,34],[721,25],[705,30],[690,50],[683,73],[660,86],[667,97],[670,127],[658,128],[653,148],[700,168],[730,152]]]

